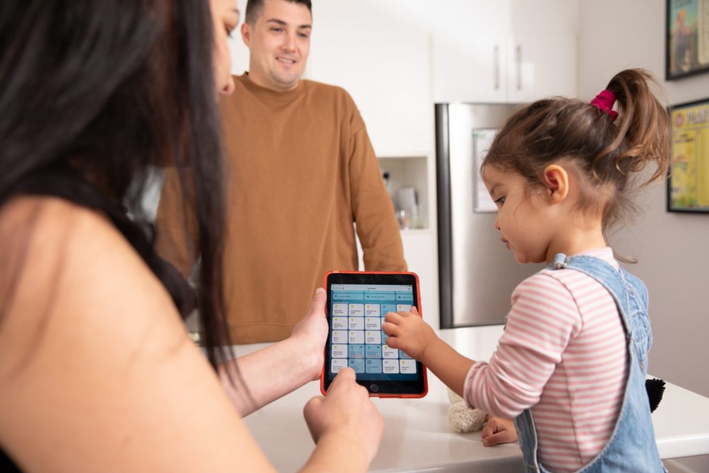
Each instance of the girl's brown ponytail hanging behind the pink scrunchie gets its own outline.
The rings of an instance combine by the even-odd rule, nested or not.
[[[610,79],[606,89],[615,95],[617,101],[618,120],[615,126],[618,131],[613,142],[593,160],[593,174],[608,175],[608,165],[613,165],[627,179],[630,173],[644,169],[651,162],[657,169],[643,185],[666,174],[669,118],[666,108],[653,93],[652,85],[654,80],[642,69],[626,69]],[[605,172],[601,170],[603,167],[606,167]]]

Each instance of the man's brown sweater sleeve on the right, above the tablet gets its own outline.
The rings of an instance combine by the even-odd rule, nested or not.
[[[348,97],[349,98],[349,97]],[[352,99],[350,99],[352,102]],[[406,271],[403,245],[389,193],[367,128],[352,102],[349,154],[352,214],[367,271]]]

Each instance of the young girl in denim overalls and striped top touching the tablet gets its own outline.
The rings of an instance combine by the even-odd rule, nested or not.
[[[647,184],[666,172],[667,113],[650,84],[625,70],[591,104],[537,101],[493,141],[482,173],[495,228],[518,262],[547,267],[513,292],[489,362],[459,355],[420,317],[386,315],[391,347],[470,406],[515,418],[528,471],[664,471],[644,386],[647,289],[605,239],[632,208],[633,174],[652,163]]]

